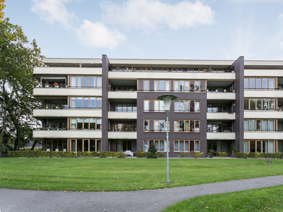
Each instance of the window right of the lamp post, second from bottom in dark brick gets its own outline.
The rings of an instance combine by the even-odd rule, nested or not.
[[[200,120],[174,120],[174,131],[199,132]]]

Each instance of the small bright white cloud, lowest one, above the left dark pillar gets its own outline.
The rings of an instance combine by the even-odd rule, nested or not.
[[[118,30],[111,30],[103,23],[91,23],[89,20],[83,20],[76,33],[81,44],[86,47],[114,49],[127,40]]]

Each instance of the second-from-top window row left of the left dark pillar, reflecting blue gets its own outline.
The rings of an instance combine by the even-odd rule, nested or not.
[[[83,109],[100,109],[101,108],[101,98],[96,97],[74,97],[71,98],[71,108]]]

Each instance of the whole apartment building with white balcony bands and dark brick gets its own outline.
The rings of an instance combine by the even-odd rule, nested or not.
[[[283,61],[45,58],[35,67],[45,151],[283,151]]]

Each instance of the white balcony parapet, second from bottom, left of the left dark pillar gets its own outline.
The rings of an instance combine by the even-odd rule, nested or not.
[[[33,117],[102,117],[101,109],[33,110]]]

